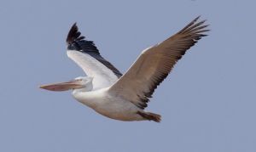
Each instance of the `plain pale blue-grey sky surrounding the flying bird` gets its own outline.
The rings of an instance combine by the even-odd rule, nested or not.
[[[255,152],[256,1],[1,1],[1,152]],[[162,121],[114,121],[70,92],[84,76],[66,55],[74,22],[125,72],[144,48],[201,15],[211,24],[154,93]]]

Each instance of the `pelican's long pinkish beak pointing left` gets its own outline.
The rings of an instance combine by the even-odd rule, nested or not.
[[[40,86],[40,88],[44,88],[46,90],[56,91],[56,92],[67,91],[69,89],[83,88],[83,87],[84,85],[79,80],[73,80],[70,82],[53,83],[53,84]]]

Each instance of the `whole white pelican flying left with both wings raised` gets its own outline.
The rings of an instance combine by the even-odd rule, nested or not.
[[[67,34],[67,56],[87,76],[41,88],[50,91],[72,89],[74,99],[115,120],[160,122],[160,115],[144,109],[177,60],[201,37],[207,36],[206,20],[198,21],[199,18],[164,42],[143,50],[124,75],[102,57],[94,42],[81,36],[75,23]]]

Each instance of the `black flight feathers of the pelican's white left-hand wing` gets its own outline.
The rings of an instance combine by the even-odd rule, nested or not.
[[[87,53],[93,58],[97,59],[103,65],[107,66],[108,69],[112,70],[115,76],[121,77],[122,73],[116,69],[108,60],[104,59],[100,54],[96,45],[92,41],[88,41],[84,36],[81,36],[77,23],[74,23],[67,34],[67,49],[76,50],[82,53]]]

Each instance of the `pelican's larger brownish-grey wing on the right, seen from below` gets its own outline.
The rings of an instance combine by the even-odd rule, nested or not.
[[[131,101],[141,109],[147,107],[148,98],[151,98],[154,89],[163,82],[177,60],[201,37],[207,36],[203,34],[209,31],[204,25],[205,20],[198,22],[198,19],[166,41],[144,50],[125,75],[109,88],[109,92]]]

